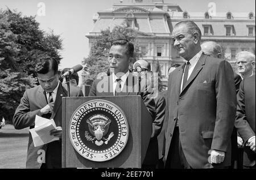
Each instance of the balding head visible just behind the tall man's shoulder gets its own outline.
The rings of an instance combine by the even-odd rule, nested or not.
[[[214,41],[206,41],[201,44],[204,54],[214,58],[221,58],[221,46]]]

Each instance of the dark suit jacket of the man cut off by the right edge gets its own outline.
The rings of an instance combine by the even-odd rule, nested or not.
[[[243,142],[255,136],[255,75],[243,79],[240,84],[235,126]],[[255,153],[249,146],[245,146],[243,151],[243,165],[255,165]]]

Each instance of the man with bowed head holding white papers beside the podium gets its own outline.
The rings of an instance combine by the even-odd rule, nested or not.
[[[35,116],[54,119],[57,130],[50,133],[61,138],[61,103],[67,90],[59,81],[55,59],[43,58],[36,63],[35,72],[40,85],[27,89],[13,117],[14,127],[34,128]],[[82,96],[79,88],[71,87],[71,96]],[[61,168],[61,139],[34,147],[32,136],[28,139],[26,168]]]

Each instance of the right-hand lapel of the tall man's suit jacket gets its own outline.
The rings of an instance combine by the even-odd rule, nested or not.
[[[205,65],[205,59],[206,59],[207,55],[202,54],[199,58],[199,61],[196,63],[195,68],[193,69],[191,75],[188,78],[188,81],[185,83],[184,88],[182,89],[182,91],[180,92],[180,96],[181,94],[184,92],[184,90],[188,87],[188,85],[193,81],[193,79],[196,78],[196,76],[199,74],[199,72],[201,71],[201,69],[203,68],[203,66]]]

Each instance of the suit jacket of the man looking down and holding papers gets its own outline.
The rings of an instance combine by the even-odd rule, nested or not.
[[[62,123],[62,97],[67,96],[67,90],[63,88],[61,83],[57,89],[57,95],[54,103],[51,118],[54,119],[56,126],[61,126]],[[83,96],[80,88],[71,87],[71,96]],[[13,117],[14,127],[22,129],[26,127],[34,128],[35,116],[40,115],[46,117],[46,114],[41,115],[40,109],[47,105],[46,92],[38,85],[34,88],[27,89],[23,97],[20,99],[20,104],[15,111]],[[51,166],[61,168],[61,140],[44,144],[39,147],[34,147],[31,134],[28,139],[27,162],[26,168],[40,168],[42,162],[38,161],[39,156],[46,153],[47,161],[51,161]]]

